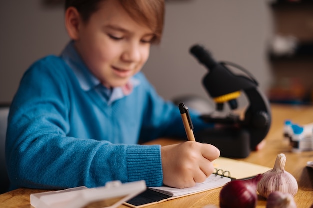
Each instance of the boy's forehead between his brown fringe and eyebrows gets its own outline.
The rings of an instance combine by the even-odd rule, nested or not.
[[[141,22],[134,20],[120,5],[118,0],[104,0],[98,4],[98,10],[89,19],[103,26],[114,25],[133,32],[152,33]]]

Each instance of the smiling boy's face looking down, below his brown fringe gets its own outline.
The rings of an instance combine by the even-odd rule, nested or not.
[[[104,86],[123,86],[147,61],[154,35],[117,0],[105,0],[99,6],[87,23],[80,22],[75,47]]]

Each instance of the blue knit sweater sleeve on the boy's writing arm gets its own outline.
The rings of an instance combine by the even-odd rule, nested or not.
[[[46,65],[37,63],[25,73],[10,108],[6,161],[11,183],[44,189],[104,186],[112,180],[162,185],[159,145],[67,136],[68,77],[62,70],[45,70]]]

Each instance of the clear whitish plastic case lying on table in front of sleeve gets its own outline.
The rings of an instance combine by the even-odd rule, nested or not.
[[[85,186],[58,191],[30,194],[30,204],[35,208],[83,208],[90,203],[123,197],[106,208],[116,208],[146,189],[145,181],[121,183],[112,181],[103,187]]]

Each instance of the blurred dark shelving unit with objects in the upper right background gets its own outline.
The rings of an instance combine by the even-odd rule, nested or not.
[[[275,39],[268,48],[272,103],[313,104],[313,0],[269,3]]]

